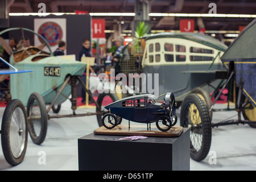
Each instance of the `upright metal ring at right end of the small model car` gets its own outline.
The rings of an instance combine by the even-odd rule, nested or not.
[[[171,118],[172,126],[174,126],[177,122],[177,117],[176,117],[176,101],[173,93],[166,93],[165,109],[170,112],[169,115]]]

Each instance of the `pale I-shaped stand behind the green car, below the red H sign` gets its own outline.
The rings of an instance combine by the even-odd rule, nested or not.
[[[86,63],[86,89],[89,90],[89,75],[90,66],[94,65],[95,57],[81,57],[81,62]],[[89,105],[89,95],[85,92],[85,105],[79,106],[80,108],[96,108],[96,106]]]

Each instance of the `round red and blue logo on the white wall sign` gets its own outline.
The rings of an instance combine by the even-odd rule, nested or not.
[[[59,24],[55,22],[43,23],[38,30],[38,34],[42,35],[50,46],[55,46],[57,43],[59,43],[63,36],[63,32]],[[43,43],[42,40],[40,40],[40,42]]]

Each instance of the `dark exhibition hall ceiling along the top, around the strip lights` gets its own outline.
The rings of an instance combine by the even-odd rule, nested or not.
[[[39,3],[46,5],[49,13],[74,13],[76,10],[88,13],[135,13],[135,0],[8,0],[9,13],[38,13]],[[152,30],[179,30],[180,19],[195,19],[197,16],[184,14],[208,14],[215,3],[217,14],[231,14],[233,17],[202,17],[206,30],[238,31],[253,18],[236,18],[236,14],[256,15],[254,0],[141,0],[150,5],[150,13],[178,14],[176,16],[150,16]],[[179,15],[183,14],[183,15]],[[93,16],[104,18],[106,30],[113,30],[114,24],[121,23],[122,30],[131,30],[134,16]],[[197,24],[196,24],[197,26]],[[195,27],[195,30],[198,27]]]

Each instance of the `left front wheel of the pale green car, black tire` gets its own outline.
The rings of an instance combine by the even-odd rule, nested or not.
[[[47,133],[47,111],[43,97],[37,92],[28,98],[27,116],[32,141],[35,144],[43,143]]]

